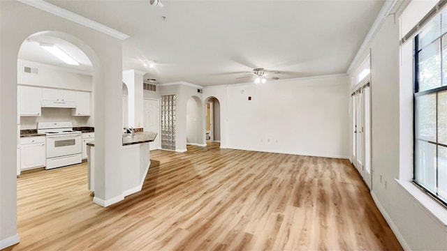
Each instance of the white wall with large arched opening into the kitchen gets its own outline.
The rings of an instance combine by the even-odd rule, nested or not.
[[[51,15],[18,1],[0,1],[0,247],[17,235],[17,54],[34,33],[67,40],[85,52],[94,66],[95,199],[122,199],[122,40]],[[105,70],[107,69],[107,70]],[[63,195],[61,195],[63,196]]]

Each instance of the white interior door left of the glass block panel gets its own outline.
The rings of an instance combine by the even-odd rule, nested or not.
[[[154,142],[149,143],[149,150],[160,149],[159,100],[145,98],[143,106],[144,106],[143,130],[145,130],[146,132],[156,132],[157,133]]]

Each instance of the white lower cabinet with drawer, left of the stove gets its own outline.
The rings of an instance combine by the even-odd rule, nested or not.
[[[45,167],[45,137],[20,138],[20,169]]]

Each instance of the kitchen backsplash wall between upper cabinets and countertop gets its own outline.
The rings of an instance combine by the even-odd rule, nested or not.
[[[21,116],[20,129],[36,129],[39,122],[71,121],[73,127],[93,127],[90,116],[72,116],[68,108],[42,108],[42,116]]]

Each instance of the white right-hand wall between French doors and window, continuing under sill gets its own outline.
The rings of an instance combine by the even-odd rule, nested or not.
[[[414,19],[423,17],[433,3],[434,1],[411,1],[407,7],[409,11],[402,16],[405,22],[401,23],[402,27],[406,31],[411,29],[417,22]],[[371,50],[372,59],[371,192],[374,201],[406,250],[447,250],[447,228],[435,220],[396,181],[402,178],[402,173],[411,173],[412,169],[412,160],[403,162],[401,160],[405,158],[400,156],[411,155],[412,159],[412,98],[402,99],[402,93],[412,95],[413,46],[412,41],[409,41],[409,50],[403,52],[400,49],[399,26],[400,23],[395,22],[393,16],[388,16],[367,49]],[[406,31],[403,31],[402,35]],[[402,66],[410,69],[409,75],[404,76],[410,80],[405,83],[400,79]],[[403,131],[402,128],[405,127],[410,129]],[[411,132],[408,133],[409,131]]]

